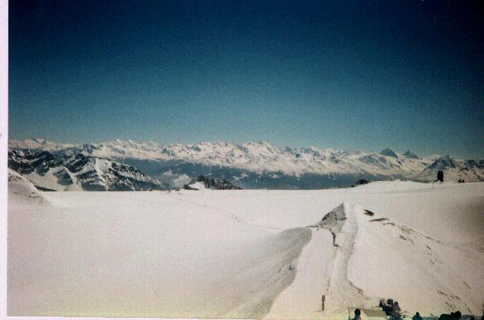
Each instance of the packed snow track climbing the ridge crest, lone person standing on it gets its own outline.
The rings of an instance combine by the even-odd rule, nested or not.
[[[346,219],[340,232],[332,234],[330,227],[310,227],[313,237],[298,259],[296,278],[277,297],[266,319],[338,318],[348,307],[368,302],[362,289],[348,279],[358,226],[355,206],[344,202],[343,208]],[[323,294],[325,310],[321,312]]]

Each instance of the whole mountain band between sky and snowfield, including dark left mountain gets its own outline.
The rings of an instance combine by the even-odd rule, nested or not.
[[[440,170],[444,182],[484,181],[484,160],[420,158],[410,150],[399,154],[391,149],[378,153],[276,147],[268,141],[74,145],[12,140],[8,167],[41,189],[60,191],[166,190],[195,182],[209,189],[325,189],[351,186],[359,179],[432,182]],[[200,175],[204,182],[196,181]]]

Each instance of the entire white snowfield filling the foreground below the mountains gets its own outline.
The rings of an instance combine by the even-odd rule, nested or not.
[[[10,315],[346,319],[390,297],[482,312],[481,183],[17,195]]]

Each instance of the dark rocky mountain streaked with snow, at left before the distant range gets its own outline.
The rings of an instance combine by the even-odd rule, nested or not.
[[[10,150],[8,167],[46,191],[166,190],[166,182],[133,166],[81,153]]]

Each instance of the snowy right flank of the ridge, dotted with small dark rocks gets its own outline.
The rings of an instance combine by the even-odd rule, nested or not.
[[[479,311],[482,250],[433,239],[392,221],[371,221],[375,217],[365,216],[361,209],[355,213],[359,230],[348,272],[365,296],[388,297],[398,288],[395,297],[409,314],[439,314],[449,307],[465,314]]]

